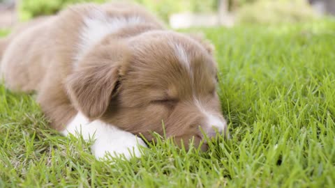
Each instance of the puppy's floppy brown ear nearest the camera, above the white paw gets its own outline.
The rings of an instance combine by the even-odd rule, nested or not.
[[[117,93],[119,70],[124,65],[122,49],[117,45],[97,48],[66,79],[70,100],[90,119],[101,117]]]

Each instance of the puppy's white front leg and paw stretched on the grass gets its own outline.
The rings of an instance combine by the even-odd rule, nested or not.
[[[80,112],[61,134],[77,135],[76,132],[80,133],[85,140],[94,136],[95,141],[91,150],[96,159],[103,159],[107,153],[114,157],[124,155],[126,159],[130,159],[133,155],[140,157],[139,147],[146,146],[144,141],[134,134],[103,123],[101,120],[89,122],[89,119]]]

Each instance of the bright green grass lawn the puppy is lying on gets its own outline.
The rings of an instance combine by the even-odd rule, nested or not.
[[[47,127],[34,96],[0,86],[0,187],[335,187],[335,22],[202,31],[232,139],[98,162]]]

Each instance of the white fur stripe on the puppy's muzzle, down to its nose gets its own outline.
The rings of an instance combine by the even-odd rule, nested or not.
[[[221,120],[218,116],[215,116],[207,111],[207,109],[202,106],[199,100],[194,99],[194,103],[196,107],[198,107],[199,111],[207,118],[207,125],[205,126],[214,127],[218,132],[223,132],[225,130],[227,123],[225,123],[224,120]]]

